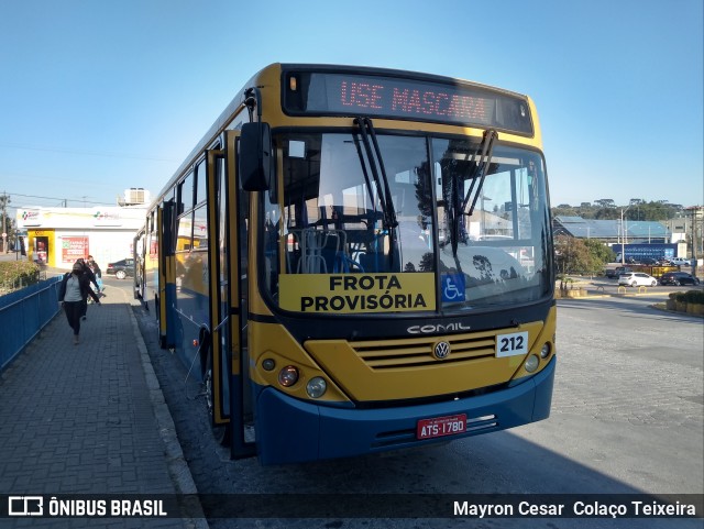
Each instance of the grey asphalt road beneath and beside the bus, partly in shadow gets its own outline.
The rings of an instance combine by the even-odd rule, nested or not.
[[[131,282],[107,279],[111,287]],[[656,290],[656,289],[653,289]],[[109,293],[109,290],[108,290]],[[651,307],[662,294],[560,300],[552,415],[436,448],[263,467],[231,461],[210,434],[198,383],[160,350],[135,309],[201,494],[704,493],[704,320]],[[283,433],[284,434],[284,433]],[[337,496],[334,496],[337,497]],[[235,500],[226,496],[223,500]],[[272,511],[277,506],[273,502]],[[697,528],[702,519],[226,519],[212,528]]]

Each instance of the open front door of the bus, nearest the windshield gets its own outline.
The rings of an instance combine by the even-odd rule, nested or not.
[[[239,131],[228,131],[224,151],[208,155],[211,288],[212,423],[221,442],[229,442],[233,459],[255,455],[252,399],[246,359],[246,214],[248,195],[237,178]],[[227,152],[227,154],[226,154]],[[244,249],[244,250],[242,250]],[[224,430],[219,432],[218,430]]]

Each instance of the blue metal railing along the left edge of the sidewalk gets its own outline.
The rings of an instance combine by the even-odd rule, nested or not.
[[[0,371],[58,313],[59,283],[52,277],[0,297]]]

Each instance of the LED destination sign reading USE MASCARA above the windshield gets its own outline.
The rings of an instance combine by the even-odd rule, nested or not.
[[[532,134],[525,98],[473,85],[358,74],[288,74],[292,114],[372,115]]]

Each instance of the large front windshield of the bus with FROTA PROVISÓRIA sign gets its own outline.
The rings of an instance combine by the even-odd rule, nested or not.
[[[383,290],[384,280],[411,274],[430,284],[422,302],[387,311],[468,312],[551,293],[540,153],[495,142],[483,158],[480,137],[376,140],[371,151],[358,132],[276,136],[283,174],[266,192],[263,219],[271,299],[302,311],[284,300],[306,278],[364,276]]]

